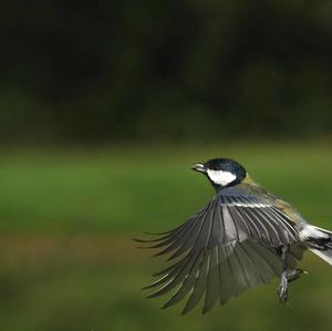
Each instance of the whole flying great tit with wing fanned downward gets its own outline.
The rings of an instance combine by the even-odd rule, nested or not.
[[[247,289],[280,278],[278,296],[305,272],[297,268],[310,249],[332,265],[332,232],[310,225],[290,204],[255,183],[238,162],[214,158],[193,169],[216,189],[212,200],[181,226],[151,240],[147,248],[168,255],[170,266],[144,289],[148,298],[172,292],[163,308],[186,299],[183,313],[203,298],[203,313]],[[145,246],[146,247],[146,246]]]

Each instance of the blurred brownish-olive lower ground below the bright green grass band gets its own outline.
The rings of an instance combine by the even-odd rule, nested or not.
[[[207,316],[180,317],[180,308],[159,310],[166,298],[144,298],[157,262],[125,238],[0,239],[0,330],[331,330],[332,270],[313,256],[302,262],[310,273],[290,285],[289,307],[276,280]]]

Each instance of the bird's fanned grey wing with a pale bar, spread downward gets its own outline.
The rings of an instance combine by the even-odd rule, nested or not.
[[[301,259],[299,235],[277,206],[256,196],[220,196],[180,227],[162,234],[151,248],[176,262],[155,276],[148,298],[174,291],[164,308],[186,297],[183,313],[204,297],[203,312],[282,272],[280,247],[290,246],[289,266]]]

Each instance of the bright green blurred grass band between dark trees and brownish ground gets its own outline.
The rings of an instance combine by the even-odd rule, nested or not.
[[[257,145],[2,152],[0,229],[159,230],[184,221],[214,195],[189,169],[215,156],[239,159],[259,183],[305,217],[331,225],[332,148]]]

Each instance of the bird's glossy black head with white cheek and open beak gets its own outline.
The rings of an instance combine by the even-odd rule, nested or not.
[[[216,189],[237,185],[248,176],[245,167],[230,158],[212,158],[191,168],[205,174]]]

